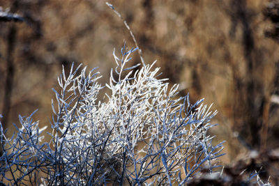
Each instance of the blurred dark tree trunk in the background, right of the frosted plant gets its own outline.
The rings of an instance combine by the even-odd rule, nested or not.
[[[250,26],[252,14],[246,7],[246,0],[231,1],[231,8],[231,36],[234,38],[236,26],[241,26],[243,56],[246,61],[244,75],[240,72],[243,70],[236,69],[239,65],[232,65],[235,92],[234,130],[240,132],[252,148],[258,149],[261,141],[263,107],[266,102],[264,91],[259,91],[263,87],[255,79],[255,65],[262,61],[254,56],[256,48],[254,33]]]

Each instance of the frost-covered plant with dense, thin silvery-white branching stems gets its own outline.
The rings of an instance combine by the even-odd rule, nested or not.
[[[184,185],[201,171],[218,169],[223,142],[207,134],[216,111],[190,104],[178,87],[159,79],[154,63],[127,67],[136,49],[121,49],[110,82],[94,68],[72,65],[58,78],[52,101],[51,140],[38,122],[20,116],[11,139],[1,127],[0,181],[10,185]],[[107,88],[106,101],[97,100]]]

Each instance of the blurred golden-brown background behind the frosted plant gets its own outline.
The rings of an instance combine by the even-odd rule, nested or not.
[[[279,178],[279,1],[109,1],[152,63],[191,102],[205,98],[225,140],[223,164]],[[112,52],[135,47],[123,21],[94,0],[0,0],[0,114],[13,134],[18,114],[50,125],[61,67],[96,66],[105,84]],[[7,9],[8,8],[8,9]],[[15,15],[15,13],[17,15]],[[13,17],[14,16],[14,17]],[[130,65],[140,62],[135,53]],[[228,168],[229,169],[229,168]]]

